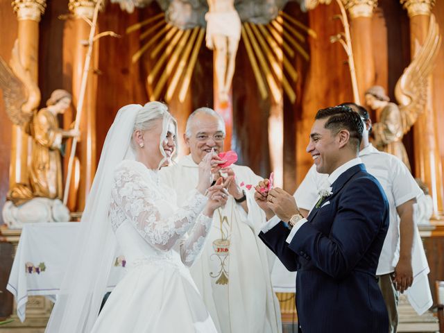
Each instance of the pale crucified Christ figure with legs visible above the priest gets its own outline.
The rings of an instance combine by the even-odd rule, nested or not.
[[[210,10],[205,15],[208,49],[214,50],[219,101],[228,101],[234,75],[237,46],[241,38],[241,19],[234,0],[207,0]]]

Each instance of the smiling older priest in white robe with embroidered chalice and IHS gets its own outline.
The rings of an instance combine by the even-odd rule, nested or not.
[[[189,116],[184,139],[190,155],[160,171],[161,179],[176,190],[179,205],[187,199],[189,189],[196,187],[203,156],[212,150],[222,152],[225,123],[214,110],[200,108]],[[212,229],[200,258],[190,268],[191,275],[218,332],[282,332],[268,252],[257,237],[264,213],[255,203],[251,186],[262,178],[250,168],[234,164],[221,171],[227,174],[230,197],[214,212]]]

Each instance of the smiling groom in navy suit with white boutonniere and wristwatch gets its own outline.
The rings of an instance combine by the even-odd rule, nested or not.
[[[296,307],[303,333],[388,332],[375,277],[388,202],[357,157],[363,128],[346,106],[316,114],[307,152],[316,171],[329,177],[307,219],[287,192],[264,191],[268,180],[256,188],[257,203],[270,219],[259,237],[289,271],[298,271]]]

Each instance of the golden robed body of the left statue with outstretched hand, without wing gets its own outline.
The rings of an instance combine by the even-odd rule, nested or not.
[[[62,163],[60,146],[65,137],[77,137],[78,130],[62,130],[57,114],[63,114],[71,104],[69,92],[56,89],[46,101],[46,108],[35,114],[31,121],[33,148],[29,172],[33,196],[61,199]]]

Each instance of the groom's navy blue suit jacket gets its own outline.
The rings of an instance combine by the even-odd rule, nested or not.
[[[388,316],[375,277],[388,228],[388,201],[364,164],[332,184],[325,205],[285,241],[281,221],[259,237],[296,275],[296,308],[303,333],[386,333]]]

